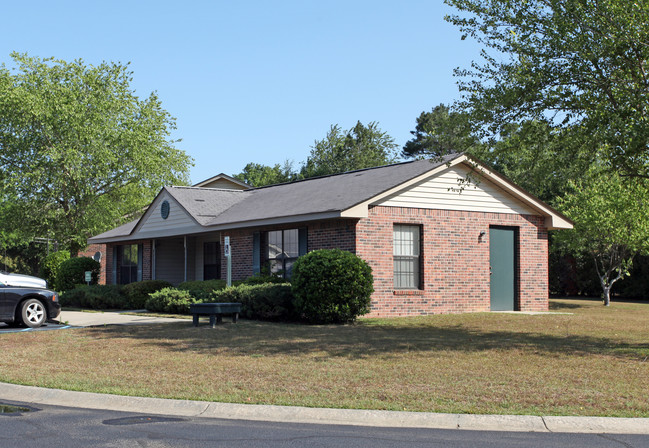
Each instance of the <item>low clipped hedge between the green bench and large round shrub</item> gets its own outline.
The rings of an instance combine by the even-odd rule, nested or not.
[[[214,302],[241,303],[241,316],[259,320],[295,320],[293,293],[289,283],[238,285],[215,291]]]

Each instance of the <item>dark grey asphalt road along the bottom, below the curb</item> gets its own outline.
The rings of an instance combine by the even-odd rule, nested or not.
[[[30,406],[26,403],[3,403]],[[476,447],[649,446],[649,435],[377,428],[164,417],[58,406],[0,414],[0,447]]]

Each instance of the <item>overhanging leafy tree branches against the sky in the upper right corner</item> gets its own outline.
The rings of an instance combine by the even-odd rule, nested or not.
[[[459,10],[447,20],[463,38],[484,46],[482,62],[457,71],[461,107],[483,130],[544,122],[570,135],[564,151],[649,177],[648,2],[445,3]]]

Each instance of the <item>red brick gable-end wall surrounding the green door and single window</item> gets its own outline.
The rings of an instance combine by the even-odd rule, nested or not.
[[[421,286],[393,288],[393,226],[421,226]],[[548,309],[547,230],[537,216],[371,207],[357,225],[356,253],[373,269],[369,317],[489,311],[489,226],[518,229],[521,311]],[[486,234],[480,238],[480,231]]]

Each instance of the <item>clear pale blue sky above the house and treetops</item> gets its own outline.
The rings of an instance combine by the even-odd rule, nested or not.
[[[401,147],[416,118],[459,98],[479,59],[442,0],[6,2],[0,63],[130,62],[140,97],[176,118],[191,181],[249,162],[299,167],[331,125],[375,121]],[[10,18],[10,19],[9,19]]]

